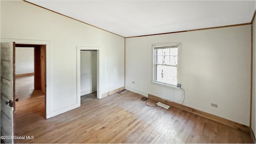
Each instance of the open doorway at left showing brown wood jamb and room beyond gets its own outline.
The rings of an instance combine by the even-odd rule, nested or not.
[[[46,118],[46,45],[16,44],[14,135]],[[15,142],[15,140],[14,140]]]

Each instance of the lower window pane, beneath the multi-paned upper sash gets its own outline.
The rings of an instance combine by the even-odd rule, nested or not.
[[[177,67],[156,65],[156,81],[177,85]]]

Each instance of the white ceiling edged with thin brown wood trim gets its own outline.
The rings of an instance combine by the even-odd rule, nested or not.
[[[123,37],[249,23],[255,0],[28,0]]]

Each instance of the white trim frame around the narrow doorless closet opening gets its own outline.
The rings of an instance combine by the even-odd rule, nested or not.
[[[102,98],[102,94],[101,94],[101,80],[100,80],[100,46],[77,46],[76,47],[76,82],[77,82],[77,103],[80,104],[80,100],[81,100],[81,68],[80,68],[80,51],[81,50],[97,50],[97,98],[100,99]],[[80,105],[79,105],[80,106]]]

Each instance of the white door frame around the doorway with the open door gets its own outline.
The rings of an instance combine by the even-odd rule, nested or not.
[[[48,40],[26,40],[26,39],[14,39],[14,38],[1,38],[1,42],[15,42],[16,44],[36,44],[46,45],[46,93],[45,93],[45,112],[46,119],[52,117],[52,90],[51,90],[51,41]]]

